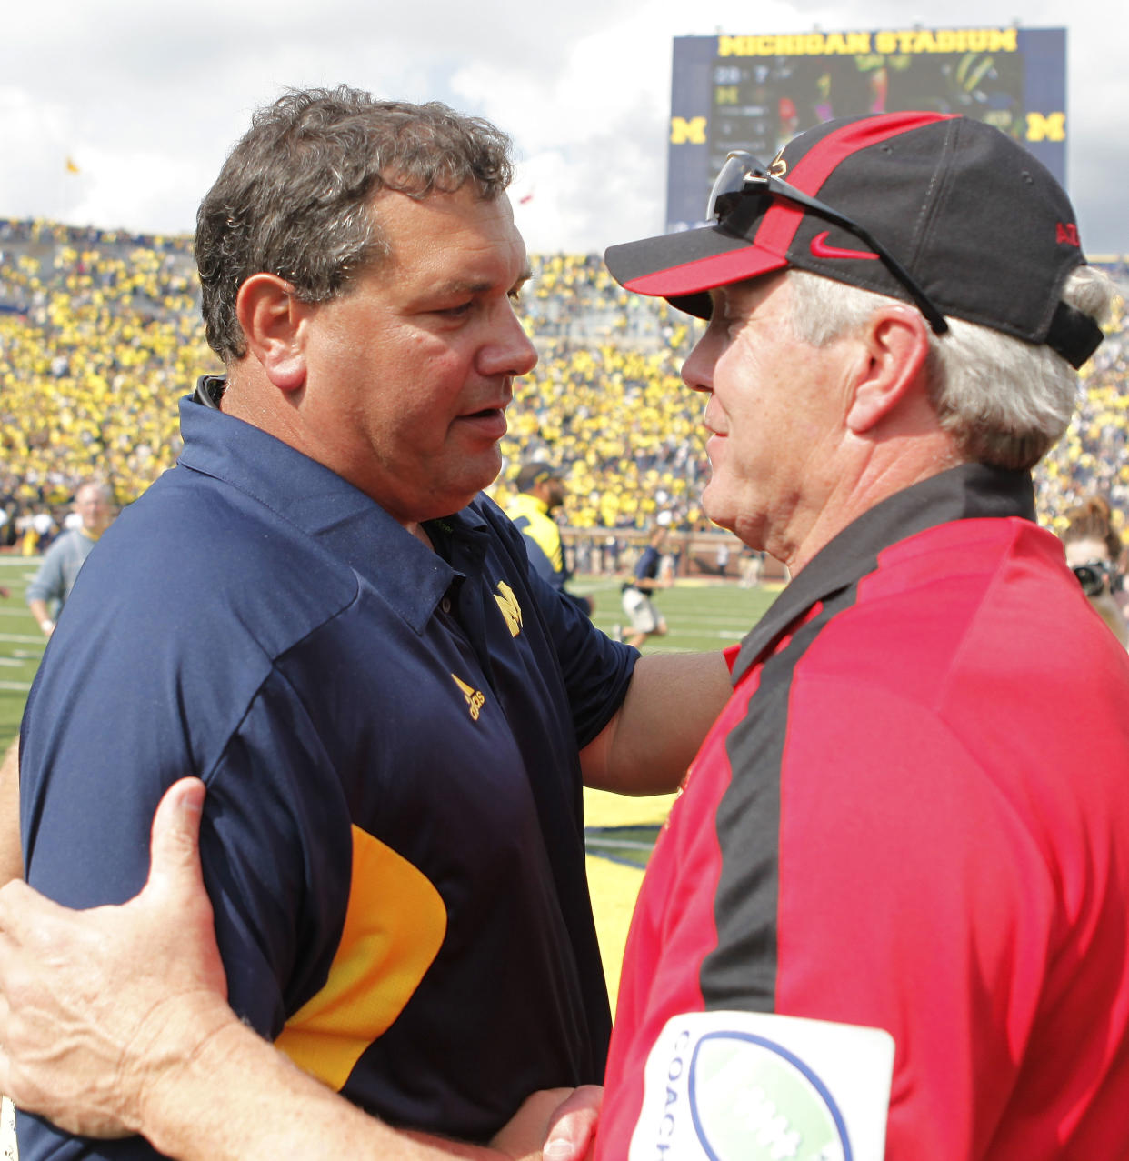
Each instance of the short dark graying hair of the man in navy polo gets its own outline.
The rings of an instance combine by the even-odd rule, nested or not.
[[[509,138],[439,101],[377,101],[346,86],[287,92],[255,113],[196,215],[208,345],[224,362],[246,354],[236,297],[253,274],[325,302],[386,258],[371,212],[379,190],[422,199],[471,182],[490,200],[512,175]]]

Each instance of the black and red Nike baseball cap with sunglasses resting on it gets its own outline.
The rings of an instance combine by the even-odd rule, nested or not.
[[[1073,208],[1019,142],[969,117],[888,113],[827,121],[768,166],[731,154],[708,224],[611,246],[628,290],[709,318],[707,291],[784,267],[1045,344],[1080,367],[1102,332],[1061,301],[1085,264]]]

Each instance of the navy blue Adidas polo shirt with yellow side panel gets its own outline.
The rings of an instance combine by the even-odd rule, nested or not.
[[[428,524],[432,551],[248,424],[188,398],[181,430],[32,687],[29,881],[129,899],[160,794],[197,774],[231,1003],[303,1067],[471,1140],[534,1089],[599,1081],[578,751],[637,654],[537,577],[485,497]],[[27,1117],[20,1148],[150,1152]]]

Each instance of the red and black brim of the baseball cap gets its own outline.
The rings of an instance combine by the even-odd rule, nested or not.
[[[716,226],[609,246],[603,260],[624,290],[670,298],[673,305],[699,318],[709,318],[710,313],[709,300],[704,304],[702,301],[704,291],[788,265],[783,254]]]

